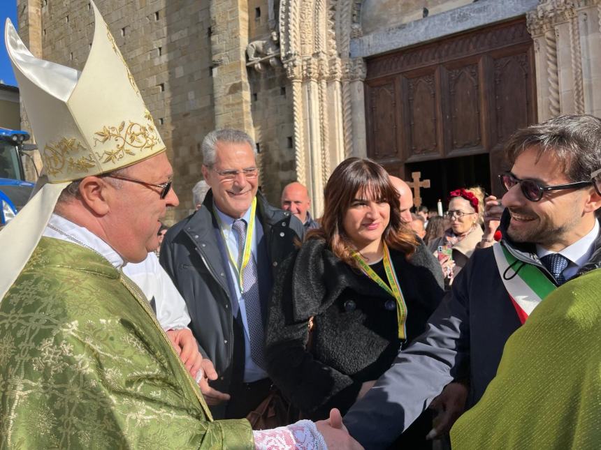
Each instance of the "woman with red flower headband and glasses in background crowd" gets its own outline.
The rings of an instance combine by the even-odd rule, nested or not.
[[[449,193],[446,216],[451,220],[451,227],[443,237],[430,243],[430,249],[442,267],[447,287],[453,283],[482,239],[483,197],[481,188],[461,188]]]

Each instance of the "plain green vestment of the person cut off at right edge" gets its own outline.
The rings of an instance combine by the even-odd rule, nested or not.
[[[596,269],[537,306],[451,429],[454,450],[601,448],[600,287]]]

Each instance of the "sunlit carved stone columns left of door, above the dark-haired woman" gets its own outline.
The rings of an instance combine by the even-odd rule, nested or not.
[[[340,59],[340,54],[348,54],[348,43],[340,46],[337,41],[349,33],[352,4],[352,0],[280,1],[280,52],[292,83],[296,175],[309,190],[316,217],[323,209],[331,171],[357,154],[356,123],[361,129],[363,122],[357,142],[362,139],[365,146],[363,86],[354,86],[360,78],[354,63]]]

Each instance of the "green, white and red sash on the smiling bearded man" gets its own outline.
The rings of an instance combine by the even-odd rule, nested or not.
[[[517,260],[501,244],[495,244],[493,250],[501,280],[523,324],[534,308],[557,286],[537,267]]]

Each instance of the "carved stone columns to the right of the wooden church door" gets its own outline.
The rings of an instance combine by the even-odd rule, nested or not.
[[[601,112],[600,0],[541,0],[528,13],[535,40],[538,119]]]

